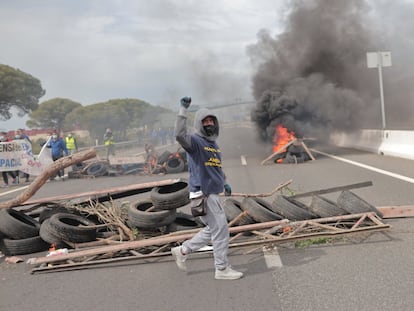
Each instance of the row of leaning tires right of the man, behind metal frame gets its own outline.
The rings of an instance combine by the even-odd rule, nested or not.
[[[246,197],[242,200],[228,198],[223,206],[227,220],[237,220],[235,225],[281,219],[301,221],[368,212],[382,217],[382,213],[375,206],[348,190],[342,191],[336,202],[320,195],[313,196],[309,206],[284,195],[277,195],[271,202],[258,197]],[[239,216],[244,211],[247,213]]]

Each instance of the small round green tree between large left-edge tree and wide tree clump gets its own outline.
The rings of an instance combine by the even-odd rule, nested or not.
[[[66,115],[82,107],[80,103],[66,98],[53,98],[39,105],[29,116],[26,124],[30,127],[55,128],[59,131],[64,128]]]

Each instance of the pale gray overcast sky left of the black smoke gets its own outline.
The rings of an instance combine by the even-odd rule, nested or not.
[[[0,0],[0,63],[82,105],[138,98],[175,108],[251,99],[246,47],[278,32],[275,0]],[[27,118],[2,122],[25,127]]]

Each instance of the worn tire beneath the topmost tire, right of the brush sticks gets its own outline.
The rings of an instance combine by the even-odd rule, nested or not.
[[[173,223],[176,209],[147,212],[152,206],[150,199],[132,202],[128,208],[128,224],[140,229],[155,229]]]

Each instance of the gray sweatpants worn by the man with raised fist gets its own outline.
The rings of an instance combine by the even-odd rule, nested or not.
[[[183,243],[183,252],[190,254],[211,241],[213,243],[214,265],[217,269],[225,269],[228,266],[229,230],[226,214],[217,194],[208,196],[207,214],[201,216],[201,220],[206,226],[193,238]]]

